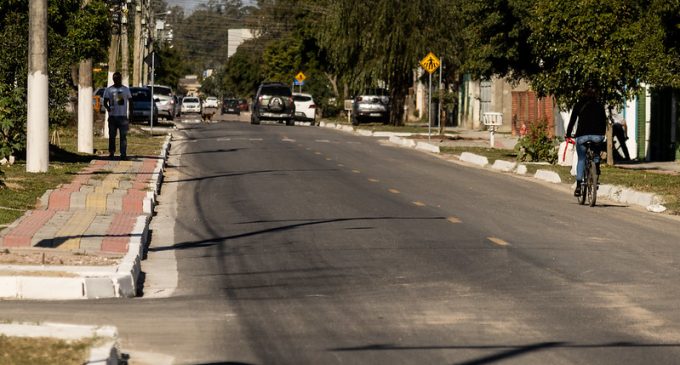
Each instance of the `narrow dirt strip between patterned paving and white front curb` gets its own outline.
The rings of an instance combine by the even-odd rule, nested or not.
[[[74,252],[51,252],[44,250],[0,250],[0,265],[46,265],[46,266],[111,266],[117,265],[119,256],[90,255]]]

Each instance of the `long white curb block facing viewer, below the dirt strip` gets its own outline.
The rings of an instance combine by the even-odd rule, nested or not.
[[[79,277],[18,276],[19,297],[30,299],[83,299],[85,288]]]

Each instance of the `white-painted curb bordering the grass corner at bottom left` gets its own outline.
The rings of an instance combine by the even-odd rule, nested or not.
[[[9,337],[51,337],[62,340],[96,338],[85,365],[118,365],[118,330],[113,326],[82,326],[45,322],[0,324],[0,334]]]

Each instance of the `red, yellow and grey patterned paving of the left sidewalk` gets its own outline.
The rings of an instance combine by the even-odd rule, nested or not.
[[[95,160],[0,233],[0,247],[125,253],[137,217],[150,215],[159,158]]]

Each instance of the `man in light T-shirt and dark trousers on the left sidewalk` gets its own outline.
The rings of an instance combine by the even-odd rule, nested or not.
[[[109,112],[109,158],[116,152],[116,134],[120,131],[120,159],[127,160],[128,112],[132,113],[132,94],[122,83],[120,72],[114,72],[113,85],[104,91],[104,108]]]

